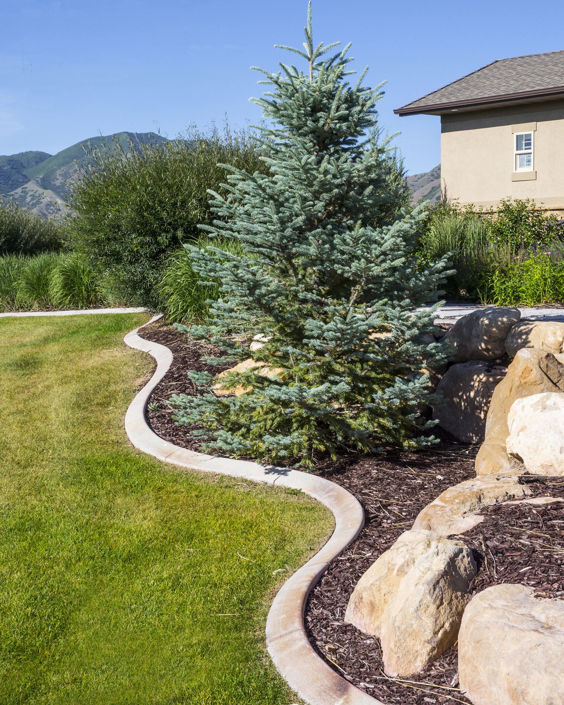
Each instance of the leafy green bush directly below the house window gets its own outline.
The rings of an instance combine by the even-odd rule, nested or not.
[[[556,217],[547,217],[546,212],[547,209],[537,207],[529,198],[502,198],[496,212],[490,210],[486,216],[491,242],[514,250],[549,243],[555,232]]]

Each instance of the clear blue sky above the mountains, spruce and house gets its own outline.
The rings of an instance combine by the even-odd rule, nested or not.
[[[393,109],[486,63],[564,49],[561,2],[313,0],[314,41],[353,42],[409,173],[441,161],[440,118]],[[260,75],[302,45],[306,0],[0,0],[0,154],[55,154],[99,133],[173,137],[227,114],[257,123]],[[297,58],[297,57],[296,57]]]

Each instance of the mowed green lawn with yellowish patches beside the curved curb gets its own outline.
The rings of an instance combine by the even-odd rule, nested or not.
[[[266,613],[333,519],[130,446],[145,321],[0,319],[0,703],[295,702]]]

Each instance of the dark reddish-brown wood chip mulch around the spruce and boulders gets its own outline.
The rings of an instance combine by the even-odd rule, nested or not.
[[[190,369],[221,372],[202,363],[202,354],[217,351],[193,343],[172,326],[157,323],[140,331],[143,338],[161,343],[174,355],[171,369],[150,400],[148,421],[161,438],[198,450],[190,427],[177,427],[165,400],[173,393],[197,394],[186,376]],[[423,673],[409,678],[384,674],[379,639],[343,622],[357,581],[407,529],[427,504],[448,487],[474,477],[477,446],[464,446],[453,436],[436,433],[440,446],[408,453],[388,450],[367,457],[358,453],[321,458],[316,474],[350,491],[364,507],[366,523],[360,537],[333,560],[307,601],[305,625],[309,641],[326,663],[355,686],[386,704],[470,703],[458,687],[456,645]],[[564,478],[526,476],[532,496],[564,499]],[[479,592],[502,582],[534,587],[537,596],[564,598],[564,502],[553,505],[499,504],[483,512],[484,521],[460,537],[475,548],[479,571],[470,584]]]

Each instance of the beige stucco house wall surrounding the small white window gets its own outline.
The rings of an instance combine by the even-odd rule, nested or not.
[[[512,125],[537,123],[536,180],[512,181]],[[441,178],[461,204],[495,207],[501,198],[534,198],[564,208],[564,101],[441,117]]]

